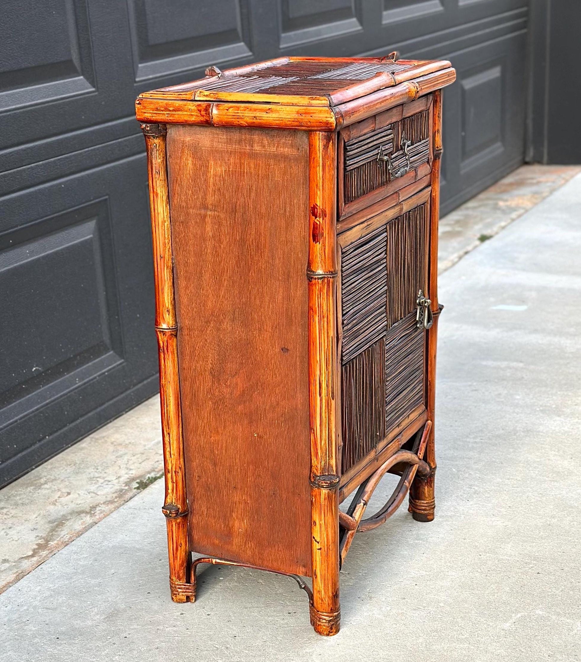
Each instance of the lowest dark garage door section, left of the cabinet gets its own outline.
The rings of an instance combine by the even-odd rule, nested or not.
[[[0,485],[156,391],[146,178],[140,155],[0,199]]]

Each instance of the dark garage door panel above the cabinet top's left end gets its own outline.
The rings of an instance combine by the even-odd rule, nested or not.
[[[246,0],[128,0],[136,81],[251,56]]]

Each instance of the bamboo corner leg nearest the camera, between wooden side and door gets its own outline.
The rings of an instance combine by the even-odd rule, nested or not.
[[[309,402],[315,632],[339,632],[337,475],[337,134],[309,134]]]

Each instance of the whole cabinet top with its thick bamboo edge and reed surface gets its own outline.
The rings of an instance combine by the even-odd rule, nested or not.
[[[277,58],[139,95],[140,122],[337,131],[450,85],[447,60]]]

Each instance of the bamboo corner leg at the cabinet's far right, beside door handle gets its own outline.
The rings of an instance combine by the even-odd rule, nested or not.
[[[425,461],[430,472],[426,477],[416,476],[409,491],[409,510],[417,522],[434,519],[436,453],[434,446],[435,400],[436,400],[436,344],[438,319],[441,308],[438,303],[438,221],[440,213],[440,166],[442,157],[442,91],[434,93],[433,109],[434,160],[432,165],[432,190],[430,201],[430,254],[429,254],[429,298],[431,299],[434,323],[427,331],[427,410],[432,428],[428,438]]]

